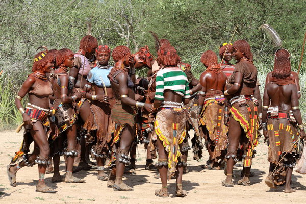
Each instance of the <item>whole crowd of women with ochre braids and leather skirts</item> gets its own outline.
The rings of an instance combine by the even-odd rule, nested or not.
[[[111,51],[107,45],[98,46],[91,35],[82,38],[76,53],[42,48],[15,99],[24,134],[7,168],[12,186],[20,168],[37,164],[38,192],[56,192],[44,182],[46,171],[53,172],[52,182],[85,182],[72,175],[80,168],[96,168],[98,179],[114,190],[133,190],[122,176],[135,173],[135,152],[141,142],[147,150],[145,169],[160,172],[162,188],[155,195],[168,197],[167,179],[175,177],[175,194],[185,197],[182,175],[188,173],[191,129],[193,159],[202,157],[204,147],[209,153],[202,168],[224,169],[222,186],[233,187],[235,163],[243,161],[238,184],[250,186],[262,129],[269,144],[266,184],[271,188],[285,184],[286,193],[294,191],[291,175],[301,154],[297,142],[306,134],[298,106],[298,75],[291,71],[288,50],[276,50],[262,100],[257,68],[245,40],[221,44],[221,63],[212,50],[204,52],[199,80],[167,39],[156,39],[157,58],[147,46],[135,54],[122,45]],[[109,63],[111,56],[114,65]],[[230,63],[232,57],[235,65]],[[144,67],[147,77],[136,78],[136,69]],[[24,109],[22,99],[27,94]],[[65,177],[59,171],[60,156],[66,162]],[[106,165],[111,168],[109,175]]]

